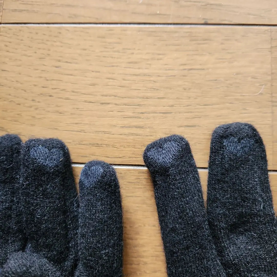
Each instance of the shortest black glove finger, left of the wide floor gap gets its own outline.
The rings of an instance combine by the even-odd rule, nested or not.
[[[122,207],[114,168],[102,161],[86,163],[79,191],[76,276],[122,276]]]

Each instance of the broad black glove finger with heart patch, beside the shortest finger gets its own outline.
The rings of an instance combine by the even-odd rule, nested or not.
[[[77,259],[78,199],[66,145],[31,139],[22,149],[22,195],[26,201],[28,253],[38,253],[62,276]]]

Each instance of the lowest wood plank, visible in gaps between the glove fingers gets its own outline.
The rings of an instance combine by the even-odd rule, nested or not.
[[[82,167],[73,167],[78,183]],[[146,169],[117,168],[124,217],[124,276],[166,277],[153,185]],[[200,170],[204,199],[207,171]],[[275,211],[277,211],[277,174],[270,173]]]

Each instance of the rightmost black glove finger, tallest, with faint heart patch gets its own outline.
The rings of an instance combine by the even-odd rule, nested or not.
[[[276,275],[276,220],[265,146],[250,124],[222,125],[212,134],[207,213],[229,276]]]

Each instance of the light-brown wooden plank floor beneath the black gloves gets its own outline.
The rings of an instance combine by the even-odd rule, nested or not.
[[[277,1],[0,0],[0,135],[58,137],[76,181],[116,166],[125,276],[166,276],[142,152],[184,135],[204,194],[212,130],[255,125],[277,208]],[[203,169],[204,168],[204,169]]]

